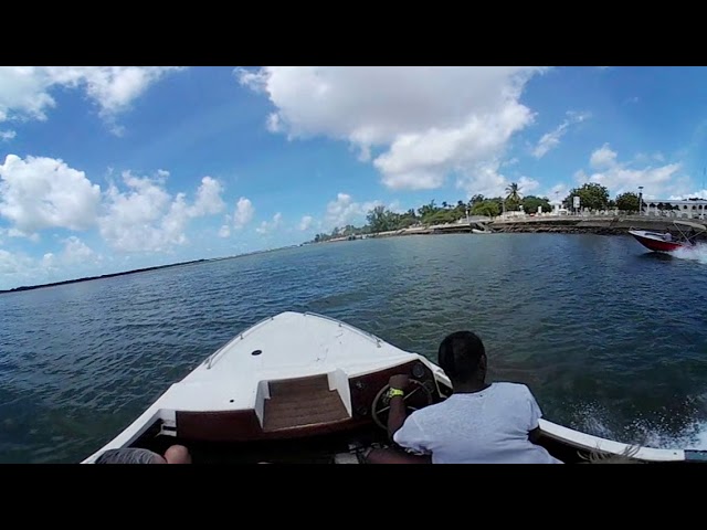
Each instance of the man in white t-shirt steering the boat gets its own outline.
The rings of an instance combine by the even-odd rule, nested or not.
[[[536,445],[542,416],[525,384],[486,383],[486,352],[471,331],[440,344],[439,364],[454,393],[407,416],[408,375],[390,378],[388,432],[408,454],[378,449],[371,464],[562,464]],[[412,453],[412,454],[410,454]],[[416,455],[416,456],[415,456]]]

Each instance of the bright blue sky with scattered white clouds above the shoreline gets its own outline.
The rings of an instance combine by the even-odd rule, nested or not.
[[[704,94],[704,67],[0,67],[0,289],[509,182],[696,197]]]

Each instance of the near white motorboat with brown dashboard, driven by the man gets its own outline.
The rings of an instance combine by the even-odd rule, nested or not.
[[[241,331],[172,384],[106,449],[163,453],[182,444],[199,463],[358,464],[368,447],[390,443],[388,381],[408,374],[410,411],[452,394],[443,370],[329,317],[282,312]],[[540,441],[564,463],[592,454],[645,463],[703,463],[707,452],[630,447],[540,420]]]

